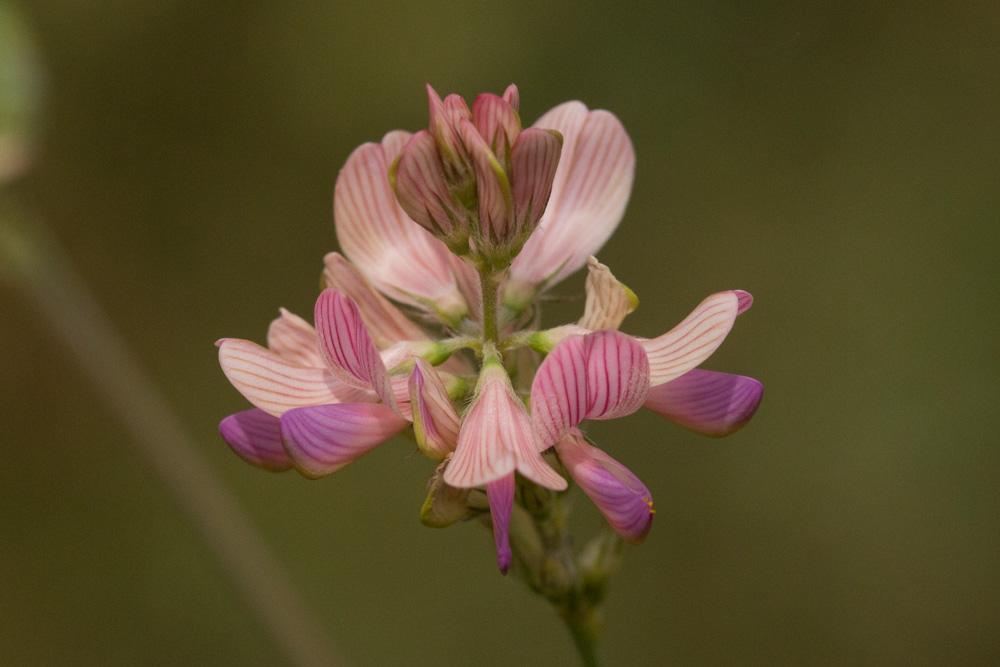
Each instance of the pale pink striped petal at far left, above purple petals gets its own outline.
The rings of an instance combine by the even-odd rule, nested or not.
[[[219,346],[222,372],[254,406],[274,416],[308,405],[373,400],[370,391],[344,384],[326,368],[293,364],[267,348],[238,338]]]

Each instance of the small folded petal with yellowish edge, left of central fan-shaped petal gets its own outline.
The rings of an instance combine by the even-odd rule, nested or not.
[[[458,443],[459,418],[437,371],[417,359],[409,379],[413,433],[420,451],[443,459]]]

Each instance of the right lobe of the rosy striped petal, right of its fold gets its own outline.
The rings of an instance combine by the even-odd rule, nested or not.
[[[584,336],[586,419],[618,419],[642,407],[649,393],[649,362],[642,346],[617,331]]]

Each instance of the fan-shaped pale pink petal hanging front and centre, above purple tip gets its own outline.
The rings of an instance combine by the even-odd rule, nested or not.
[[[487,362],[479,376],[476,397],[462,421],[458,447],[444,481],[459,488],[484,486],[515,469],[547,488],[566,488],[566,480],[536,451],[531,418],[514,394],[503,366]]]

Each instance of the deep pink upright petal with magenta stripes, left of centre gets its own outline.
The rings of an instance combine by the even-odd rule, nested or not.
[[[334,289],[316,299],[316,333],[327,367],[343,382],[374,389],[389,406],[395,405],[389,374],[361,320],[358,306]]]

